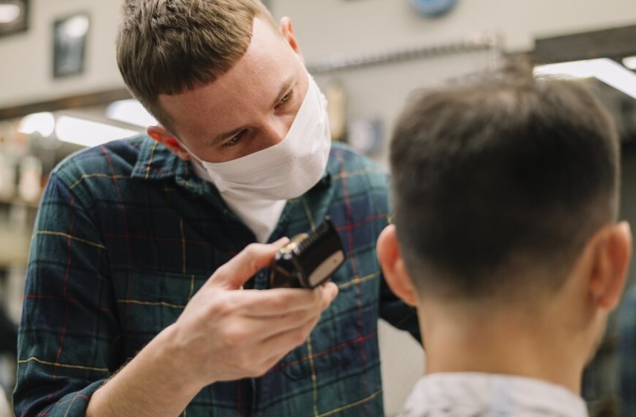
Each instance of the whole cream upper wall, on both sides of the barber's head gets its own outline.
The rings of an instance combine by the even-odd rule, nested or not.
[[[115,63],[121,0],[31,0],[29,31],[0,38],[0,107],[123,86]],[[334,54],[445,43],[476,31],[504,36],[508,51],[532,48],[534,36],[636,23],[634,0],[461,0],[442,19],[423,19],[408,0],[270,0],[289,15],[308,62]],[[88,11],[86,70],[53,80],[53,21]]]

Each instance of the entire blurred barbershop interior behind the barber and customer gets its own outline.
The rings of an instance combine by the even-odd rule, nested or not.
[[[28,246],[48,173],[83,147],[154,123],[115,61],[121,0],[0,0],[0,416],[14,384]],[[588,79],[622,139],[621,217],[636,219],[634,0],[268,0],[290,16],[309,72],[329,100],[332,136],[387,167],[387,139],[408,94],[509,58]],[[541,167],[537,167],[541,169]],[[636,222],[632,222],[636,224]],[[632,265],[628,286],[636,285]],[[618,416],[619,326],[610,320],[585,373],[594,416]],[[636,319],[635,319],[636,320]],[[636,327],[636,323],[634,324]],[[387,416],[424,366],[406,334],[381,325]],[[635,394],[636,395],[636,394]],[[5,407],[6,408],[6,407]],[[11,416],[9,411],[5,411]]]

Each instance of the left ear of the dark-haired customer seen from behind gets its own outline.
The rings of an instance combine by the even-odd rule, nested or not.
[[[391,224],[386,226],[380,236],[376,246],[378,260],[384,274],[384,279],[391,288],[393,294],[400,297],[406,304],[417,307],[418,297],[415,287],[408,275],[406,265],[402,258],[396,226]]]

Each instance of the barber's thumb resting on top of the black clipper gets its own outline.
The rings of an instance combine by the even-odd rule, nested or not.
[[[238,255],[221,265],[210,277],[206,285],[223,287],[226,290],[238,290],[253,277],[258,270],[272,263],[277,250],[289,243],[289,238],[280,238],[267,245],[251,243]]]

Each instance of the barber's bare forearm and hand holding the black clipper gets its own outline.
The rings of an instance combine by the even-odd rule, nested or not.
[[[179,319],[95,391],[86,415],[176,416],[216,381],[260,376],[302,344],[338,294],[314,290],[243,290],[288,242],[253,244],[218,268]]]

